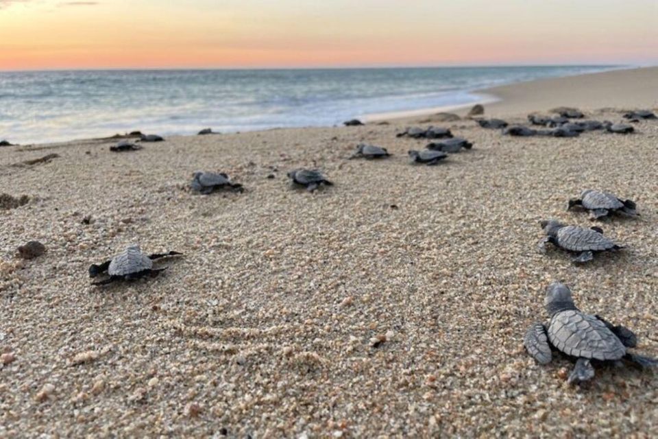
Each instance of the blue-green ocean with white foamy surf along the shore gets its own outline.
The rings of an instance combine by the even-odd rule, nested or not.
[[[0,72],[0,140],[333,126],[472,104],[479,88],[614,66]]]

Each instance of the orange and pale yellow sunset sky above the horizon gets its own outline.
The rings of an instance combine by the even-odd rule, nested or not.
[[[0,0],[0,69],[658,64],[658,0]]]

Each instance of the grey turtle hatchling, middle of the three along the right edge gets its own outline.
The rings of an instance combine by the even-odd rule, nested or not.
[[[555,219],[544,220],[539,224],[546,232],[546,237],[539,243],[539,250],[546,252],[546,244],[550,242],[563,250],[576,253],[576,257],[573,259],[575,263],[592,261],[594,252],[623,248],[603,236],[603,230],[599,227],[565,226]]]

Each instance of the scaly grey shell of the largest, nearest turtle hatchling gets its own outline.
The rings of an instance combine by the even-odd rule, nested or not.
[[[550,319],[548,340],[572,357],[605,361],[626,355],[622,342],[603,322],[576,309],[561,311]]]

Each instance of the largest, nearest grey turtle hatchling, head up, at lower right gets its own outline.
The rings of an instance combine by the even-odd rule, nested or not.
[[[567,382],[579,384],[594,378],[592,361],[614,363],[629,361],[641,368],[654,368],[658,361],[629,353],[637,346],[637,336],[630,329],[576,308],[569,287],[555,282],[548,285],[544,307],[550,315],[547,324],[534,322],[526,331],[523,344],[539,364],[548,364],[552,350],[576,359]]]

